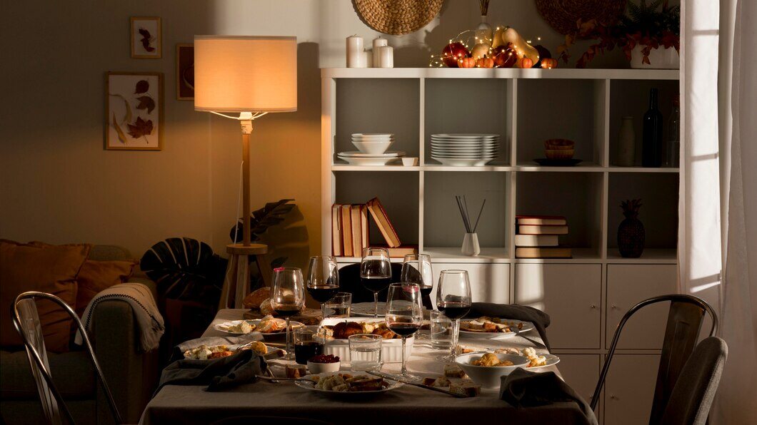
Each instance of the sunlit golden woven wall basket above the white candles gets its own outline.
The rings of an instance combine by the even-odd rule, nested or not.
[[[357,14],[380,33],[401,36],[431,22],[444,0],[354,0]]]

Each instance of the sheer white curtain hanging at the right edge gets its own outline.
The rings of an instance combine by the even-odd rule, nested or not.
[[[728,344],[710,422],[757,423],[757,2],[685,0],[681,23],[681,290]]]

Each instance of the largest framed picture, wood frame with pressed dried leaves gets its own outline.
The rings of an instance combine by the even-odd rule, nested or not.
[[[106,150],[163,150],[163,73],[105,74]]]

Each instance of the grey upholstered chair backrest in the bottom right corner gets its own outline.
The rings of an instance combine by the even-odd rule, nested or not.
[[[681,370],[661,423],[705,425],[727,357],[724,340],[718,337],[702,340]]]

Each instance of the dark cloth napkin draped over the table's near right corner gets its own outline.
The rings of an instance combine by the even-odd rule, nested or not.
[[[588,403],[554,372],[531,372],[517,368],[502,377],[500,399],[516,408],[575,402],[584,415],[585,423],[597,425],[597,417]]]

